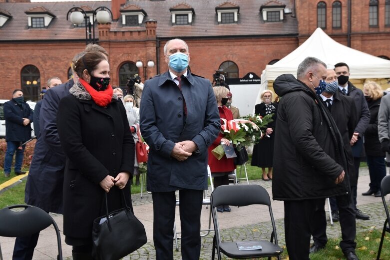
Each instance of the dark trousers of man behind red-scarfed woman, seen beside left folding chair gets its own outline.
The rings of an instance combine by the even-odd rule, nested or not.
[[[13,247],[12,260],[31,260],[38,238],[39,232],[28,237],[17,237]]]

